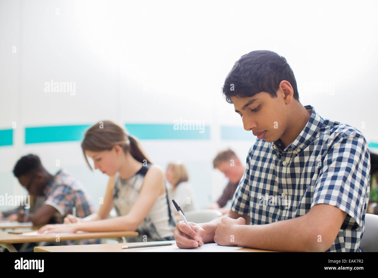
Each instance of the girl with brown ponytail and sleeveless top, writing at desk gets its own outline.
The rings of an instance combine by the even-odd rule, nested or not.
[[[138,140],[111,121],[85,132],[81,144],[85,159],[109,176],[104,202],[85,218],[69,215],[62,225],[46,225],[39,232],[137,231],[128,242],[173,240],[176,223],[170,212],[164,172],[144,154]],[[88,160],[87,160],[88,163]],[[88,163],[88,166],[91,166]],[[107,219],[115,207],[118,217]]]

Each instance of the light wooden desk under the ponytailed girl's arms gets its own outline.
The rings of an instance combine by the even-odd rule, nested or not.
[[[122,236],[138,236],[135,231],[107,231],[107,232],[87,232],[87,233],[72,233],[69,235],[59,235],[60,241],[66,240],[80,240],[80,239],[96,239],[96,238],[121,238]],[[43,242],[55,241],[56,235],[41,235],[41,236],[21,236],[10,234],[7,232],[0,232],[0,245],[7,248],[10,252],[17,252],[12,245],[13,243],[25,242]],[[87,246],[87,245],[81,245]],[[121,248],[121,247],[120,247]]]

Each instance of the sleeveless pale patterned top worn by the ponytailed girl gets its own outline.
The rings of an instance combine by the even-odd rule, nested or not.
[[[144,177],[151,165],[151,163],[147,163],[146,166],[142,166],[129,179],[121,179],[117,174],[113,191],[113,205],[118,216],[126,215],[131,210],[138,199]],[[175,240],[173,234],[175,227],[176,223],[170,211],[166,186],[166,192],[158,196],[146,218],[136,229],[139,236],[127,238],[127,242]]]

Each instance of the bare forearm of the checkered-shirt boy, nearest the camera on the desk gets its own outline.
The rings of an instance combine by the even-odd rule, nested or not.
[[[324,245],[317,241],[316,231],[302,217],[264,225],[238,225],[235,243],[263,250],[323,251]]]

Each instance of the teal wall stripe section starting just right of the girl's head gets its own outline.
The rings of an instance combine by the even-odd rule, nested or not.
[[[197,126],[197,130],[187,130],[180,124],[125,124],[127,131],[140,140],[210,140],[210,127]],[[174,129],[177,127],[177,129]]]

